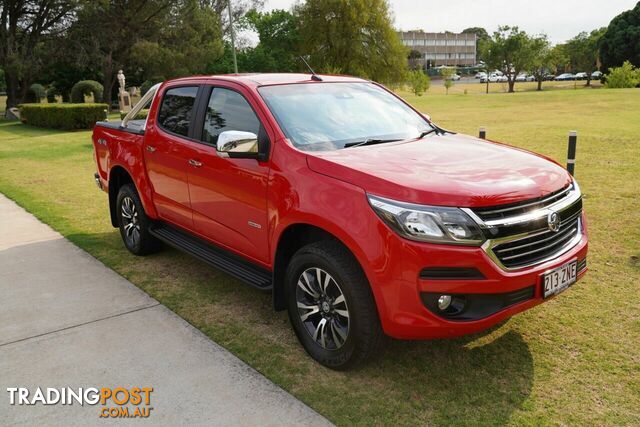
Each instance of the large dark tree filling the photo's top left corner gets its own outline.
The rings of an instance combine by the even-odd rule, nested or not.
[[[0,3],[0,64],[7,87],[7,110],[26,98],[30,82],[46,63],[46,43],[66,31],[78,4],[77,0]]]

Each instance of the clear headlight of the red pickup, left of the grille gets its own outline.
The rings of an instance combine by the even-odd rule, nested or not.
[[[367,197],[380,218],[407,239],[475,246],[485,240],[478,224],[461,209]]]

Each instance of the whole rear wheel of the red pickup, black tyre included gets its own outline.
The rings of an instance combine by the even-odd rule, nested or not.
[[[147,217],[140,196],[132,184],[125,184],[118,191],[116,212],[120,235],[125,247],[134,255],[157,252],[160,241],[149,233],[151,220]]]

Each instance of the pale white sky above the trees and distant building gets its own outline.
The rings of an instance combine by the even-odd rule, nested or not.
[[[461,32],[516,25],[530,34],[546,34],[562,43],[581,31],[606,27],[611,19],[633,9],[638,0],[389,0],[395,26],[407,31]],[[265,10],[289,9],[295,0],[267,0]]]

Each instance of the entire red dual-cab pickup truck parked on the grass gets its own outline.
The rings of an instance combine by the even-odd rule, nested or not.
[[[168,81],[122,123],[97,123],[93,143],[129,251],[163,242],[271,292],[334,369],[385,335],[481,331],[587,270],[582,197],[564,168],[444,130],[373,82]]]

